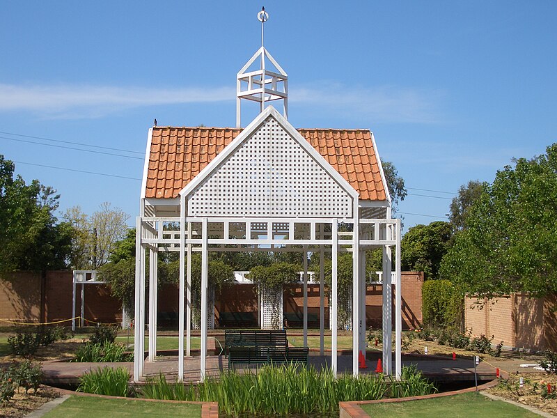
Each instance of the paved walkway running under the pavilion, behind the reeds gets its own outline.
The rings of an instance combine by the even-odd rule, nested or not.
[[[320,355],[311,355],[309,364],[320,370],[323,367],[331,367],[331,357]],[[425,376],[430,378],[441,378],[447,380],[473,380],[474,365],[469,359],[439,359],[433,357],[416,357],[415,359],[407,359],[402,362],[403,365],[416,364]],[[352,373],[352,356],[338,356],[338,372]],[[394,364],[393,364],[394,365]],[[51,361],[42,364],[42,370],[45,373],[45,381],[47,383],[56,384],[74,384],[79,376],[91,371],[92,369],[100,369],[106,366],[125,367],[133,372],[134,364],[127,363],[69,363]],[[375,373],[377,360],[366,360],[367,369],[360,369],[360,373]],[[219,376],[219,373],[228,369],[228,359],[224,356],[207,356],[206,371],[207,376]],[[184,359],[184,380],[188,382],[197,382],[200,377],[200,357],[186,357]],[[478,365],[478,380],[491,380],[495,378],[495,370],[492,366],[480,362]],[[146,376],[157,376],[159,373],[173,380],[178,376],[178,356],[159,357],[155,362],[145,362]]]

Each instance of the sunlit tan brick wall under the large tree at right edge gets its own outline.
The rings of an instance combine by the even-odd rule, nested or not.
[[[494,343],[503,341],[515,348],[557,348],[555,296],[538,299],[517,293],[493,300],[466,297],[465,304],[465,326],[473,336],[493,336]]]

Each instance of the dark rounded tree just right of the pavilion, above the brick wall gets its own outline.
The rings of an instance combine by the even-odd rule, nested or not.
[[[437,279],[441,259],[450,246],[452,236],[453,229],[444,221],[410,228],[400,242],[402,270],[424,272],[425,279]]]

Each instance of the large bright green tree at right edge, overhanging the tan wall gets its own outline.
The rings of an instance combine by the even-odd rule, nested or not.
[[[557,144],[498,171],[469,210],[441,274],[491,297],[557,292]]]

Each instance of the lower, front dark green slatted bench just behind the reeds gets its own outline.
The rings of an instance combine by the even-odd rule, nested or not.
[[[228,369],[237,364],[308,364],[307,347],[232,346],[228,353]]]

